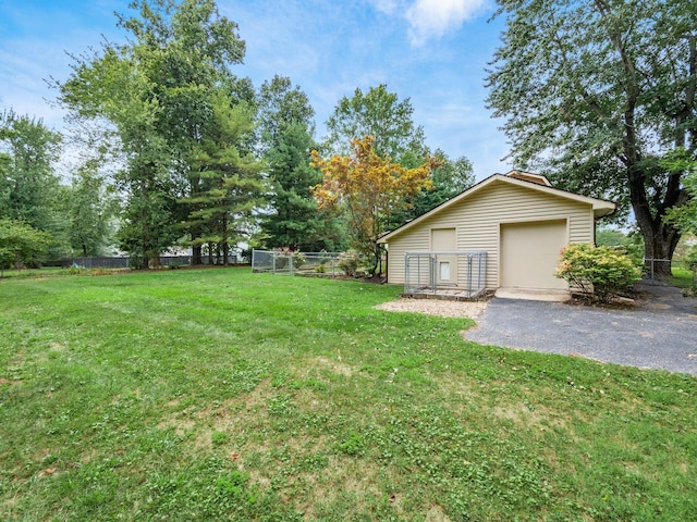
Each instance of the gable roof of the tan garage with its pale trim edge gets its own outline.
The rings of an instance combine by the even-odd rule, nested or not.
[[[596,219],[603,217],[606,215],[612,214],[616,209],[617,204],[608,201],[606,199],[591,198],[588,196],[582,196],[579,194],[570,192],[567,190],[562,190],[560,188],[552,187],[552,184],[549,183],[547,177],[541,176],[539,174],[533,174],[529,172],[523,171],[511,171],[508,174],[493,174],[486,179],[479,182],[478,184],[469,187],[467,190],[460,192],[457,196],[449,199],[448,201],[442,202],[438,207],[429,210],[425,214],[419,215],[418,217],[404,223],[402,226],[388,232],[382,237],[378,239],[379,244],[388,243],[391,237],[394,237],[399,234],[402,234],[404,231],[416,226],[418,223],[426,221],[427,219],[433,216],[435,214],[442,212],[443,210],[452,207],[453,204],[458,203],[460,201],[472,197],[473,195],[481,191],[484,188],[492,185],[494,183],[505,183],[511,184],[516,187],[529,188],[533,190],[539,190],[543,194],[549,194],[551,196],[555,196],[559,198],[570,199],[572,201],[578,201],[580,203],[590,204],[592,207],[592,213]]]

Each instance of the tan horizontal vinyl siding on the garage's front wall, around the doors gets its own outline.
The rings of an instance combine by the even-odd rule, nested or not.
[[[499,286],[501,223],[567,220],[568,243],[592,243],[590,204],[534,188],[492,183],[389,239],[388,281],[404,284],[405,252],[428,251],[431,228],[455,227],[458,250],[487,251],[487,288]]]

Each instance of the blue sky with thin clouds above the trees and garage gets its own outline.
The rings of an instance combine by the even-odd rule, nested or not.
[[[69,53],[123,41],[114,11],[127,0],[0,0],[0,110],[63,126],[46,80],[64,80]],[[481,179],[511,165],[485,108],[485,67],[499,45],[502,20],[489,23],[492,0],[218,0],[246,41],[235,72],[256,87],[289,76],[316,111],[317,137],[341,97],[387,84],[409,98],[431,149],[467,157]]]

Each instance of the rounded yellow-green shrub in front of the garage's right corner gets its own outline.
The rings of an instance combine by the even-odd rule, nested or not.
[[[557,277],[602,302],[641,278],[641,269],[624,250],[577,244],[564,248]]]

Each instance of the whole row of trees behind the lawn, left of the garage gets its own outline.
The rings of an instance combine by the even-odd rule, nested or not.
[[[0,115],[0,219],[47,232],[51,260],[118,248],[132,266],[157,268],[182,247],[193,264],[206,253],[227,263],[244,244],[338,250],[350,234],[378,259],[386,227],[470,183],[465,158],[432,160],[409,99],[386,85],[342,98],[318,144],[291,78],[257,90],[235,74],[245,41],[215,0],[133,0],[115,16],[126,38],[71,55],[69,77],[53,80],[64,136]],[[343,156],[313,159],[316,149]]]

